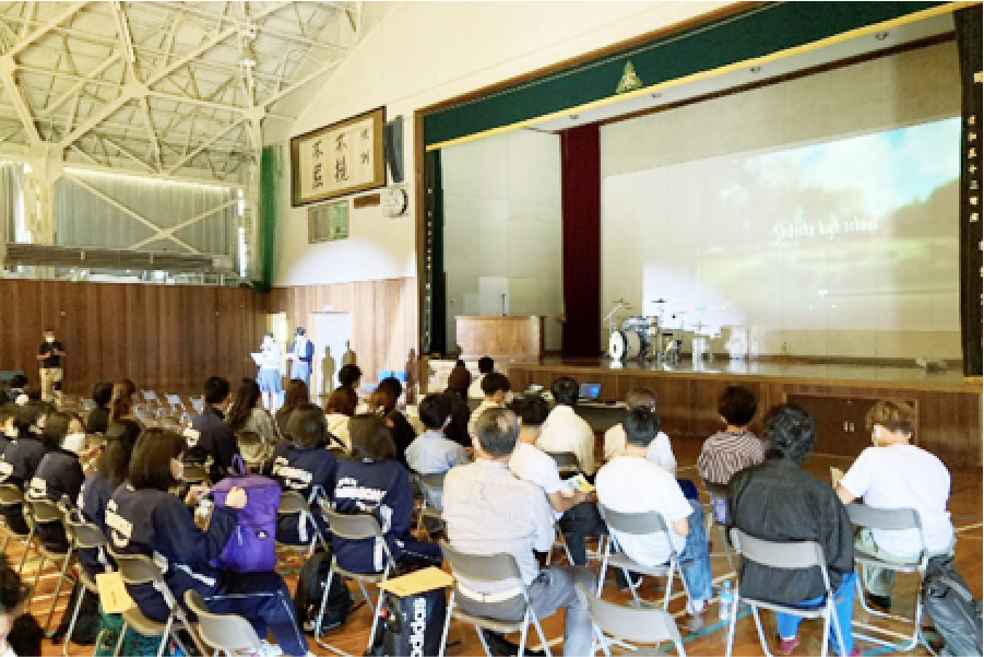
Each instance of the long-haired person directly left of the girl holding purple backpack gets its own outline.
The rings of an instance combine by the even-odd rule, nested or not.
[[[140,432],[141,426],[134,420],[120,420],[110,424],[106,429],[106,443],[96,459],[95,470],[85,478],[79,491],[75,506],[82,513],[82,518],[97,526],[107,537],[109,528],[106,527],[106,504],[116,489],[127,480],[130,457]],[[109,553],[98,548],[82,550],[79,561],[90,577],[112,567]]]

